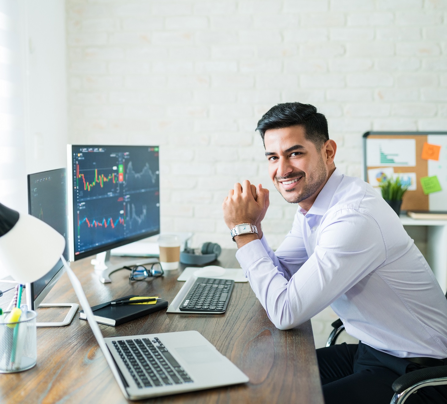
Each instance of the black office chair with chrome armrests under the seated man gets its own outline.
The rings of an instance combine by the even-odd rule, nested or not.
[[[340,319],[334,321],[331,325],[333,326],[333,330],[329,335],[326,346],[335,345],[337,337],[345,329],[345,326]],[[426,367],[424,369],[406,373],[392,383],[394,396],[391,400],[391,404],[405,403],[405,400],[407,400],[411,394],[417,392],[421,387],[439,386],[441,384],[447,384],[447,365]]]

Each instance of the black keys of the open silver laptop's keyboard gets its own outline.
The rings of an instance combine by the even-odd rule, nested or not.
[[[138,388],[192,383],[193,380],[157,338],[112,341]]]

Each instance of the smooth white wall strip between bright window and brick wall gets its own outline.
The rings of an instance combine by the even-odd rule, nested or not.
[[[65,3],[27,1],[28,173],[67,167]]]

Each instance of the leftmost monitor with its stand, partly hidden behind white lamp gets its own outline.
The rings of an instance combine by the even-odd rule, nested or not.
[[[65,168],[28,175],[28,212],[63,235],[65,238],[63,257],[67,259],[67,170]],[[71,318],[67,316],[62,323],[38,323],[38,325],[67,325],[76,313],[77,304],[42,304],[42,300],[64,271],[63,263],[59,260],[45,276],[26,285],[27,303],[32,310],[38,307],[72,307],[69,312]]]

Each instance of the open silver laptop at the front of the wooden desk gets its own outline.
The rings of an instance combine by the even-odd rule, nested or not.
[[[198,331],[104,338],[93,320],[79,280],[72,271],[67,271],[67,275],[127,399],[140,400],[249,381]]]

